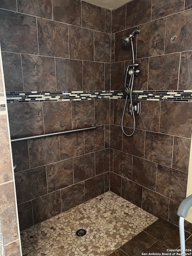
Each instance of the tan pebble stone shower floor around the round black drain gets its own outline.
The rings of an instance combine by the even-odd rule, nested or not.
[[[108,256],[156,220],[108,191],[22,231],[22,255]],[[85,236],[76,236],[80,228]]]

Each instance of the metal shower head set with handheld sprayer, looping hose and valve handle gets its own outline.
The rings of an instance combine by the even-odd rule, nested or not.
[[[138,63],[134,63],[135,59],[134,59],[134,49],[133,49],[132,38],[134,38],[135,34],[139,34],[140,31],[141,31],[140,28],[137,28],[137,29],[134,30],[133,33],[131,33],[129,35],[129,37],[124,36],[121,39],[121,43],[125,47],[129,47],[129,45],[131,44],[132,54],[133,54],[133,64],[128,65],[128,67],[127,67],[127,70],[126,70],[125,76],[124,76],[123,88],[122,88],[122,93],[123,93],[123,95],[126,96],[125,107],[126,107],[126,104],[127,104],[128,95],[130,95],[131,103],[130,103],[130,107],[129,107],[130,108],[129,112],[131,113],[131,115],[133,115],[133,118],[134,118],[134,129],[133,129],[133,132],[131,134],[126,134],[124,129],[123,129],[123,118],[124,118],[124,114],[125,114],[125,107],[124,107],[123,116],[122,116],[122,131],[128,137],[131,137],[134,134],[134,132],[135,132],[135,116],[134,116],[134,112],[136,112],[137,115],[140,115],[140,103],[136,104],[134,107],[133,107],[133,103],[132,103],[132,89],[133,89],[134,76],[137,76],[139,74],[139,72],[140,72],[139,69],[136,69],[136,67],[138,67],[139,64]],[[130,81],[129,81],[129,85],[127,84],[127,76],[128,76],[128,74],[131,76]]]

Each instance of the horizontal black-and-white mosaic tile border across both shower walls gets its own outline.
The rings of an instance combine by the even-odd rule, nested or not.
[[[125,99],[122,91],[33,91],[6,92],[7,103]],[[192,90],[133,91],[134,100],[192,102]],[[130,97],[129,97],[130,98]]]

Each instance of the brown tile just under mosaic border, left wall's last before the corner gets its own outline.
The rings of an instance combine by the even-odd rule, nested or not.
[[[98,125],[110,123],[110,100],[95,100],[95,122]]]

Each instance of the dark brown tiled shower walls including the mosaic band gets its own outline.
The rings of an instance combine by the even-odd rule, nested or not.
[[[0,2],[11,138],[98,124],[12,143],[20,230],[109,190],[178,224],[192,131],[191,8],[191,0],[134,0],[112,11],[80,0]],[[132,53],[120,39],[137,26],[133,96],[141,115],[126,137],[121,89]],[[127,113],[124,126],[133,129]],[[11,180],[4,175],[1,188]]]

